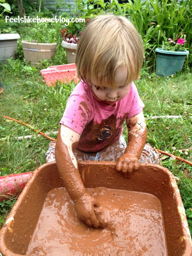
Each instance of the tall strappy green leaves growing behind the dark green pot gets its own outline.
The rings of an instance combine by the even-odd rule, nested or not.
[[[161,47],[166,38],[180,38],[186,34],[189,39],[186,48],[190,49],[192,40],[191,19],[192,1],[169,0],[129,0],[121,8],[126,8],[127,15],[136,26],[144,41],[144,66],[155,69],[155,48]],[[174,36],[175,35],[175,36]],[[192,59],[188,62],[192,64]],[[186,62],[187,63],[187,62]]]

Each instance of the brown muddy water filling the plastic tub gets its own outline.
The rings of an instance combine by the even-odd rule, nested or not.
[[[87,190],[99,200],[96,211],[106,228],[89,228],[78,220],[65,188],[56,188],[46,197],[27,255],[167,255],[158,198],[126,190]]]

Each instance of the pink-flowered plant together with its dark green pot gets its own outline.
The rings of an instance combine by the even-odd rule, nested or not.
[[[168,38],[161,48],[156,48],[156,74],[159,76],[172,76],[183,68],[184,60],[189,51],[184,47],[186,40]]]

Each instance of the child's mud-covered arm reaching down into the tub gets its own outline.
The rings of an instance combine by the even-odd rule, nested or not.
[[[98,227],[94,207],[98,207],[94,198],[90,196],[84,187],[77,166],[73,149],[78,144],[80,134],[61,125],[55,148],[55,158],[58,172],[62,177],[64,186],[74,201],[77,216],[88,226]]]

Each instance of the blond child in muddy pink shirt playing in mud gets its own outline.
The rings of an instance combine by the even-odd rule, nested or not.
[[[86,192],[77,160],[116,161],[122,174],[138,170],[140,162],[158,162],[155,150],[145,145],[144,104],[133,83],[139,78],[143,58],[138,32],[121,16],[97,16],[78,41],[76,67],[81,81],[60,121],[55,159],[77,216],[88,226],[102,226],[96,216],[100,203]],[[128,146],[122,137],[124,121]],[[48,162],[54,160],[52,152],[53,142]]]

